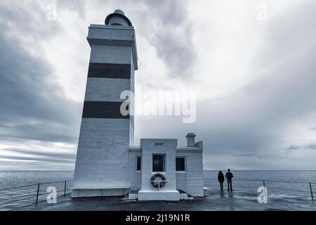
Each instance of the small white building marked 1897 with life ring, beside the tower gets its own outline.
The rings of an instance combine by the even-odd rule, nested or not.
[[[203,196],[202,154],[203,143],[195,143],[195,134],[187,134],[185,147],[178,147],[177,139],[140,139],[140,147],[129,148],[131,191],[139,190],[138,200],[179,200],[180,192]],[[154,185],[156,174],[166,181]]]

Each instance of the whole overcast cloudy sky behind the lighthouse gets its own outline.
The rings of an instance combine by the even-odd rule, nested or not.
[[[195,132],[205,169],[316,169],[314,0],[1,0],[0,169],[74,168],[88,26],[117,8],[136,29],[136,84],[197,92],[195,123],[137,117],[136,143]]]

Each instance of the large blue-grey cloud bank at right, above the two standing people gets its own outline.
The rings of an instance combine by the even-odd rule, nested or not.
[[[265,43],[249,68],[253,79],[225,96],[197,103],[197,121],[190,127],[179,121],[159,121],[154,124],[168,127],[157,132],[195,131],[204,141],[210,164],[215,163],[211,155],[216,153],[269,162],[284,158],[284,129],[316,112],[315,8],[310,1],[271,18]]]

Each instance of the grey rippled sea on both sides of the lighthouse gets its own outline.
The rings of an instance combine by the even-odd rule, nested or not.
[[[256,199],[258,191],[266,188],[269,199],[282,200],[280,204],[284,204],[286,199],[291,204],[304,205],[303,210],[316,210],[316,202],[312,201],[312,194],[316,200],[316,171],[238,170],[232,173],[234,198]],[[71,193],[73,176],[73,171],[0,171],[0,210],[8,209],[8,203],[11,209],[32,204],[37,192],[38,201],[46,200],[50,186],[55,187],[60,195]],[[204,187],[210,193],[219,191],[217,176],[218,171],[204,171]],[[224,188],[227,189],[226,183]],[[282,205],[282,209],[291,210],[291,207]]]

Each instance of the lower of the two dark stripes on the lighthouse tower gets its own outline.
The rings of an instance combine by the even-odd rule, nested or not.
[[[129,119],[129,115],[121,115],[121,102],[85,101],[82,118]]]

